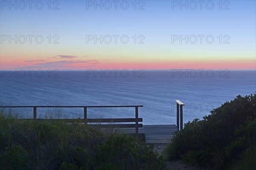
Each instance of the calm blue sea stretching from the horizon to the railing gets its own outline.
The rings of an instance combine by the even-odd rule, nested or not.
[[[143,124],[176,124],[176,102],[183,122],[202,119],[225,101],[255,94],[256,71],[86,70],[0,72],[1,105],[143,105]],[[5,112],[9,109],[5,108]],[[32,109],[12,113],[32,118]],[[134,108],[89,108],[89,118],[134,117]],[[38,108],[38,117],[83,117],[82,108]]]

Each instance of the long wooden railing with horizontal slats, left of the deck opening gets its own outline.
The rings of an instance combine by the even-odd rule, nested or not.
[[[0,108],[33,108],[33,119],[36,121],[37,118],[37,108],[84,108],[84,123],[113,123],[113,122],[135,122],[135,124],[97,124],[96,126],[100,128],[112,128],[112,127],[135,127],[136,136],[139,134],[139,127],[142,127],[142,118],[139,118],[139,107],[143,105],[129,105],[129,106],[0,106]],[[87,108],[135,108],[135,118],[116,118],[116,119],[87,119]],[[49,120],[49,119],[40,119]],[[69,121],[72,119],[54,119],[54,120],[64,120]]]

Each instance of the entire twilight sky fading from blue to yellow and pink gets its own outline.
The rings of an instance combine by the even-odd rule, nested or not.
[[[256,1],[0,0],[0,69],[256,70]]]

